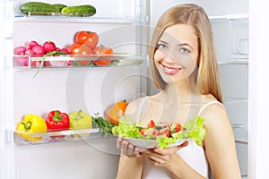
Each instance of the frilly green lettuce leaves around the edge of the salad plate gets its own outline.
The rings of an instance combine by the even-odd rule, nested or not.
[[[157,136],[156,141],[158,141],[158,147],[161,149],[166,149],[169,144],[176,143],[176,141],[182,139],[192,139],[197,145],[201,146],[205,136],[205,129],[203,124],[204,118],[198,115],[195,116],[194,119],[189,120],[187,124],[182,126],[182,131],[172,133],[171,137],[167,137],[165,135]],[[122,116],[119,118],[119,124],[112,128],[112,133],[118,137],[123,138],[152,140],[152,136],[143,136],[140,133],[141,129],[141,126],[134,124],[133,119],[127,116]]]

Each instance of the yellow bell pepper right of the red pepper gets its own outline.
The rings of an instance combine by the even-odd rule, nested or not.
[[[91,129],[92,128],[92,117],[89,114],[84,113],[82,110],[74,111],[69,115],[70,129]],[[82,136],[90,135],[90,133],[82,133]],[[77,136],[77,135],[73,135]]]

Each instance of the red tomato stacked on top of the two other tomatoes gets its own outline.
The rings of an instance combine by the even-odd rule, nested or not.
[[[88,47],[94,48],[98,45],[99,35],[93,31],[82,30],[75,35],[77,44],[86,44]]]

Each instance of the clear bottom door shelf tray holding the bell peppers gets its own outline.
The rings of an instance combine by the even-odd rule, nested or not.
[[[22,136],[24,136],[24,138]],[[115,138],[115,136],[100,132],[99,128],[39,133],[14,130],[8,141],[13,141],[16,144],[45,144],[68,141],[100,140],[105,138]]]

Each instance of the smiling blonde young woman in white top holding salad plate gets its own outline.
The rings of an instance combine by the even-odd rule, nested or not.
[[[159,93],[131,102],[126,115],[185,124],[202,116],[203,145],[194,141],[169,149],[140,149],[123,139],[117,178],[239,179],[235,140],[221,90],[213,33],[203,8],[179,4],[161,16],[152,35],[150,59]]]

